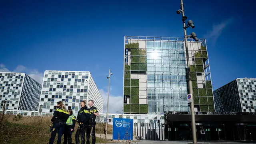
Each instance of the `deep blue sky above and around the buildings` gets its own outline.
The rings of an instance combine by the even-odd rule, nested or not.
[[[255,76],[254,0],[184,0],[206,38],[214,90]],[[0,69],[40,79],[45,70],[90,71],[106,94],[122,96],[124,36],[182,37],[180,0],[1,1]]]

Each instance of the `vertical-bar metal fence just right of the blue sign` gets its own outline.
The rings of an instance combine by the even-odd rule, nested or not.
[[[134,123],[134,140],[165,140],[163,123]]]

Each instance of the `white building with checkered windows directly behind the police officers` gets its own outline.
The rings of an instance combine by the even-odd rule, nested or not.
[[[94,106],[99,112],[103,112],[103,98],[90,72],[44,72],[39,102],[39,112],[42,115],[51,116],[58,101],[62,101],[66,108],[71,108],[77,114],[82,100],[94,100]]]

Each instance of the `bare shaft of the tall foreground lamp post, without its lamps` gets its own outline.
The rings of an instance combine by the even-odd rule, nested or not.
[[[183,7],[183,0],[181,2],[181,10],[182,10],[182,18],[185,16],[184,14],[184,7]],[[195,112],[194,112],[194,100],[193,100],[193,89],[192,89],[192,81],[190,75],[190,64],[189,64],[189,54],[188,54],[188,40],[187,40],[187,32],[186,32],[186,23],[185,20],[183,21],[183,29],[184,29],[184,36],[185,36],[185,47],[186,47],[186,58],[188,64],[188,88],[189,93],[192,94],[192,102],[190,103],[190,114],[191,114],[191,125],[192,125],[192,135],[193,135],[193,144],[196,144],[196,120],[195,120]]]

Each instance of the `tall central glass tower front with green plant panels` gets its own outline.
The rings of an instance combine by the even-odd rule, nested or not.
[[[215,111],[205,40],[188,41],[195,111]],[[184,39],[126,36],[124,113],[190,111]]]

